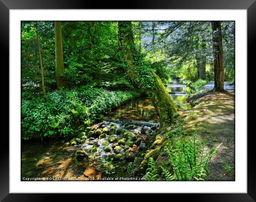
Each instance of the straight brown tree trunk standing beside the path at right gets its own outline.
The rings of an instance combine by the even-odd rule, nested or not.
[[[223,48],[221,22],[212,21],[212,42],[214,57],[214,88],[213,91],[224,90],[224,67],[223,67]]]

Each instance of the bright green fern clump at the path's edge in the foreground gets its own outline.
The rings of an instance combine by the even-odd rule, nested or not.
[[[165,150],[168,152],[173,172],[163,169],[166,180],[204,181],[208,177],[208,162],[222,143],[207,152],[203,142],[197,139],[196,130],[193,137],[181,134],[178,137],[169,137],[168,140],[169,146]]]

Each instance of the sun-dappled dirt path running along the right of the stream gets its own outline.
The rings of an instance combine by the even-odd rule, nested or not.
[[[235,181],[235,92],[214,92],[194,102],[192,110],[180,111],[184,128],[197,127],[208,149],[223,142],[208,165],[208,180]]]

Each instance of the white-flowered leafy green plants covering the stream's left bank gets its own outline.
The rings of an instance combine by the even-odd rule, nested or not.
[[[42,96],[21,98],[21,131],[24,139],[56,135],[69,136],[78,132],[75,123],[90,125],[103,114],[125,101],[139,96],[136,91],[108,91],[89,88],[60,90]]]

